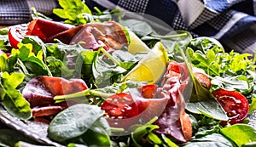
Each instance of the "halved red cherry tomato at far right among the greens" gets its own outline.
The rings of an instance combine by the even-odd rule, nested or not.
[[[218,89],[212,92],[212,95],[222,105],[227,116],[229,117],[230,124],[242,122],[246,117],[249,110],[247,98],[241,93],[225,89]],[[227,122],[222,122],[225,125]]]

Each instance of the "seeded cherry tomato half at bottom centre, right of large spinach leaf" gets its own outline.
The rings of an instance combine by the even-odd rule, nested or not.
[[[108,97],[101,108],[114,119],[131,118],[139,114],[137,105],[129,93],[117,93]]]

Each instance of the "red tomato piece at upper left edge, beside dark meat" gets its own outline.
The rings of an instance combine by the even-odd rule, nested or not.
[[[22,41],[23,37],[26,36],[27,28],[15,25],[9,28],[9,43],[13,48],[18,49],[18,43]]]

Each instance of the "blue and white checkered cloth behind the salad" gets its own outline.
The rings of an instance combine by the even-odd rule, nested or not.
[[[174,30],[195,36],[214,37],[227,51],[254,54],[256,50],[255,0],[86,0],[92,9],[119,8],[149,14]],[[17,24],[30,19],[30,7],[51,14],[57,0],[1,0],[0,24]]]

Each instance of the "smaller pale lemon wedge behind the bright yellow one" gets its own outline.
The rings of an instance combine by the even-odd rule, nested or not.
[[[128,31],[130,36],[130,44],[128,45],[128,52],[131,54],[137,53],[148,53],[150,48],[139,38],[137,35],[132,32]]]

